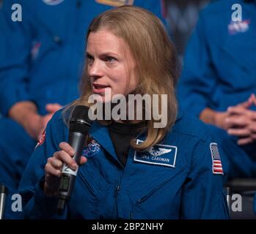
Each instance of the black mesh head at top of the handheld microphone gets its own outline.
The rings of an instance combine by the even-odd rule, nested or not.
[[[88,116],[89,107],[84,105],[78,105],[73,110],[70,118],[70,132],[81,132],[88,134],[89,127],[91,127],[92,121]]]

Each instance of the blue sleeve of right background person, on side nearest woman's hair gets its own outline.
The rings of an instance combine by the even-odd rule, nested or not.
[[[199,116],[205,107],[211,107],[211,95],[217,81],[206,35],[207,20],[202,13],[186,48],[178,83],[178,101],[192,116]]]

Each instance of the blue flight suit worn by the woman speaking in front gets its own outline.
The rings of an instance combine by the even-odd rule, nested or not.
[[[49,121],[45,141],[29,159],[19,187],[30,219],[227,219],[223,176],[213,168],[208,127],[180,112],[161,143],[146,152],[130,148],[122,166],[109,130],[93,122],[70,203],[56,214],[56,198],[45,197],[42,183],[48,157],[67,141],[59,110]],[[145,140],[145,132],[137,137]],[[161,154],[159,152],[162,152]],[[214,159],[215,160],[215,159]],[[221,168],[219,168],[221,169]]]

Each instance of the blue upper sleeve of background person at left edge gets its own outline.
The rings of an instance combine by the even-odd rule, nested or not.
[[[12,3],[20,3],[22,21],[12,21]],[[29,14],[22,1],[3,1],[0,11],[0,112],[7,116],[15,102],[30,100],[28,91],[29,53],[32,34]]]

